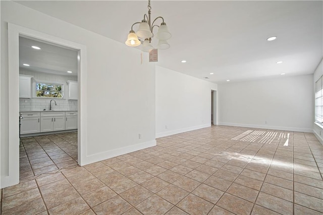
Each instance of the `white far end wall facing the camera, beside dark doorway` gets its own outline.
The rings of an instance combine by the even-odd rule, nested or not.
[[[220,125],[312,132],[313,75],[219,84],[218,107]]]

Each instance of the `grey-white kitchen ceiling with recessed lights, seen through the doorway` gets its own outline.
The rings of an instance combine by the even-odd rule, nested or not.
[[[34,49],[37,46],[40,49]],[[48,42],[19,37],[19,67],[43,73],[77,76],[77,51]],[[24,66],[28,64],[30,66]],[[72,73],[68,73],[71,71]]]

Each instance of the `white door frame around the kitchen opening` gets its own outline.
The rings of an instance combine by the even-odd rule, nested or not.
[[[19,183],[19,36],[56,43],[78,51],[78,164],[82,166],[86,158],[87,145],[87,83],[86,46],[45,34],[19,25],[8,23],[8,63],[9,63],[9,142],[8,173],[1,177],[2,188]],[[18,87],[17,87],[18,86]],[[82,86],[82,87],[80,87]],[[17,119],[17,120],[15,120]]]

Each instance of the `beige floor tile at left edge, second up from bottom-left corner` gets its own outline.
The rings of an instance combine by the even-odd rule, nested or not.
[[[2,210],[8,210],[10,208],[25,204],[37,198],[40,198],[38,188],[28,190],[22,193],[18,193],[2,199]]]

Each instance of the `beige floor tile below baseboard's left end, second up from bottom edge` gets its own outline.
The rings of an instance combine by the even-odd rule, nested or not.
[[[92,192],[89,192],[87,194],[84,194],[82,197],[91,207],[94,207],[102,203],[103,201],[115,197],[116,195],[117,194],[112,189],[110,189],[107,186],[104,186],[96,190],[93,190]]]

